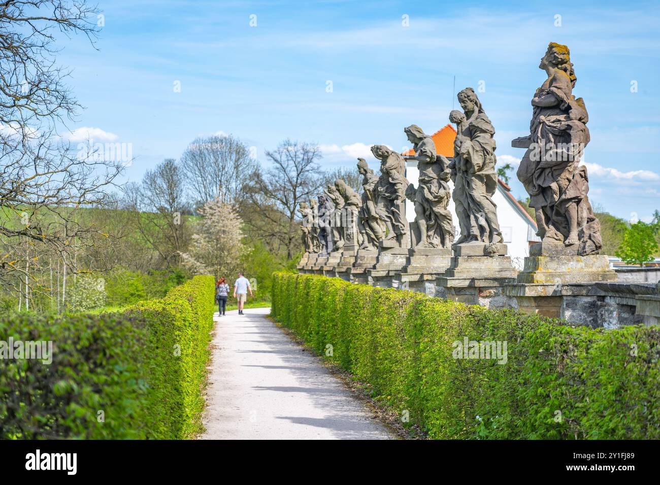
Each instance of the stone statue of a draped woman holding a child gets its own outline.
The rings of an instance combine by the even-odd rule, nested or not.
[[[449,121],[457,124],[454,156],[449,164],[454,181],[452,197],[461,227],[461,237],[455,244],[502,243],[497,206],[492,200],[498,183],[495,129],[473,88],[465,88],[457,97],[464,113],[449,113]]]

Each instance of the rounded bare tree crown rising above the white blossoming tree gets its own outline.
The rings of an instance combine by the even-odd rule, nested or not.
[[[183,152],[181,163],[197,205],[216,198],[238,203],[243,184],[257,168],[248,146],[232,135],[195,139]]]

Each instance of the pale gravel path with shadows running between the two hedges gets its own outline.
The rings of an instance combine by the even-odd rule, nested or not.
[[[393,439],[315,356],[266,315],[215,317],[202,439]]]

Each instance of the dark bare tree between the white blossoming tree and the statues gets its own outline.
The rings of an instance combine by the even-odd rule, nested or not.
[[[245,187],[248,204],[242,213],[261,238],[276,240],[292,259],[300,245],[296,209],[318,195],[323,185],[318,164],[321,151],[317,145],[285,140],[275,150],[267,150],[266,156],[272,166],[252,174]]]

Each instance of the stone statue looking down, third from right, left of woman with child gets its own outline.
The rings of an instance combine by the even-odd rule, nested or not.
[[[408,140],[413,143],[415,155],[407,160],[417,160],[419,185],[408,186],[406,196],[414,203],[415,220],[419,226],[420,241],[417,247],[449,247],[453,243],[453,225],[449,206],[449,160],[436,154],[436,144],[417,125],[405,128]]]

